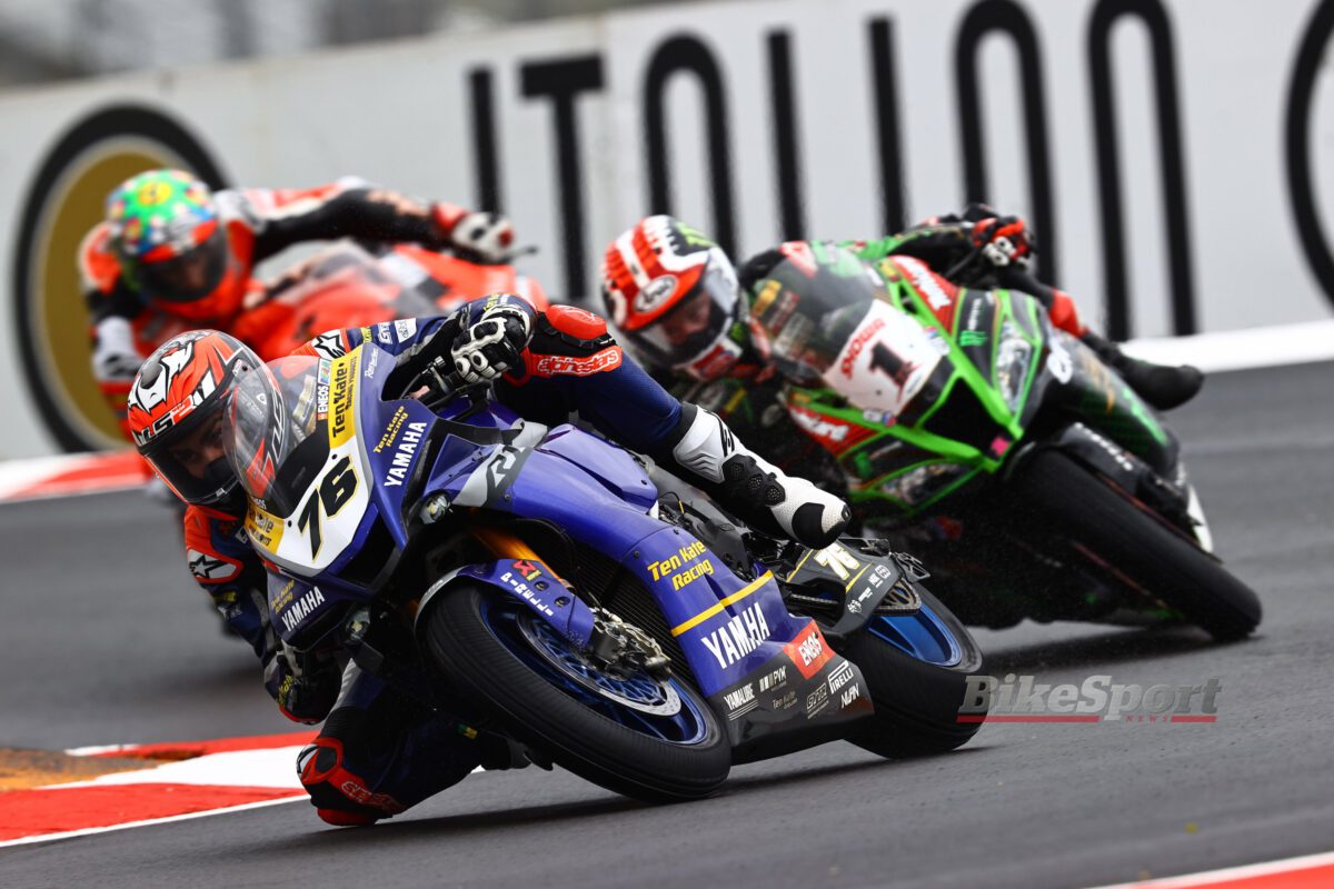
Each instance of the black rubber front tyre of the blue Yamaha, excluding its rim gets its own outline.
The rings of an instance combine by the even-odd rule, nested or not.
[[[727,737],[708,702],[687,682],[672,678],[671,686],[683,712],[698,717],[699,740],[674,742],[634,730],[562,688],[559,670],[546,665],[536,648],[530,649],[532,657],[516,653],[511,646],[522,646],[522,636],[502,641],[495,614],[514,621],[542,620],[500,592],[463,582],[432,604],[426,641],[446,676],[495,709],[516,737],[550,753],[570,772],[647,802],[706,797],[727,778]],[[603,706],[615,712],[618,705],[608,698]],[[635,717],[630,716],[630,721]]]

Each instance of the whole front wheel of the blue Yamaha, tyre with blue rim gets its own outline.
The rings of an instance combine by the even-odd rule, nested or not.
[[[594,784],[647,802],[706,797],[727,778],[731,748],[708,704],[679,678],[658,684],[674,714],[619,697],[596,668],[523,604],[462,582],[438,596],[426,641],[446,676],[495,709],[519,738]],[[611,692],[599,692],[602,680]],[[632,677],[652,694],[650,677]]]

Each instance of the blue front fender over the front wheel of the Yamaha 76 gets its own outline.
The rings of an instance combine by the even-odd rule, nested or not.
[[[588,648],[594,626],[592,610],[538,558],[502,558],[451,570],[431,584],[422,596],[416,626],[420,629],[422,616],[427,613],[431,600],[450,586],[467,581],[495,586],[527,605],[534,614],[551,624],[558,633],[580,649]]]

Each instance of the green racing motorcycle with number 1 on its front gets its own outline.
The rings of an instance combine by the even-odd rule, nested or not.
[[[820,244],[754,292],[788,413],[963,621],[1186,622],[1218,640],[1259,624],[1175,437],[1034,297]]]

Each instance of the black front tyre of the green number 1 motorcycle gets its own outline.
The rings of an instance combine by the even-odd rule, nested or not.
[[[1039,450],[1011,481],[1063,537],[1179,610],[1219,641],[1259,625],[1259,597],[1211,554],[1166,528],[1127,494],[1058,450]]]

